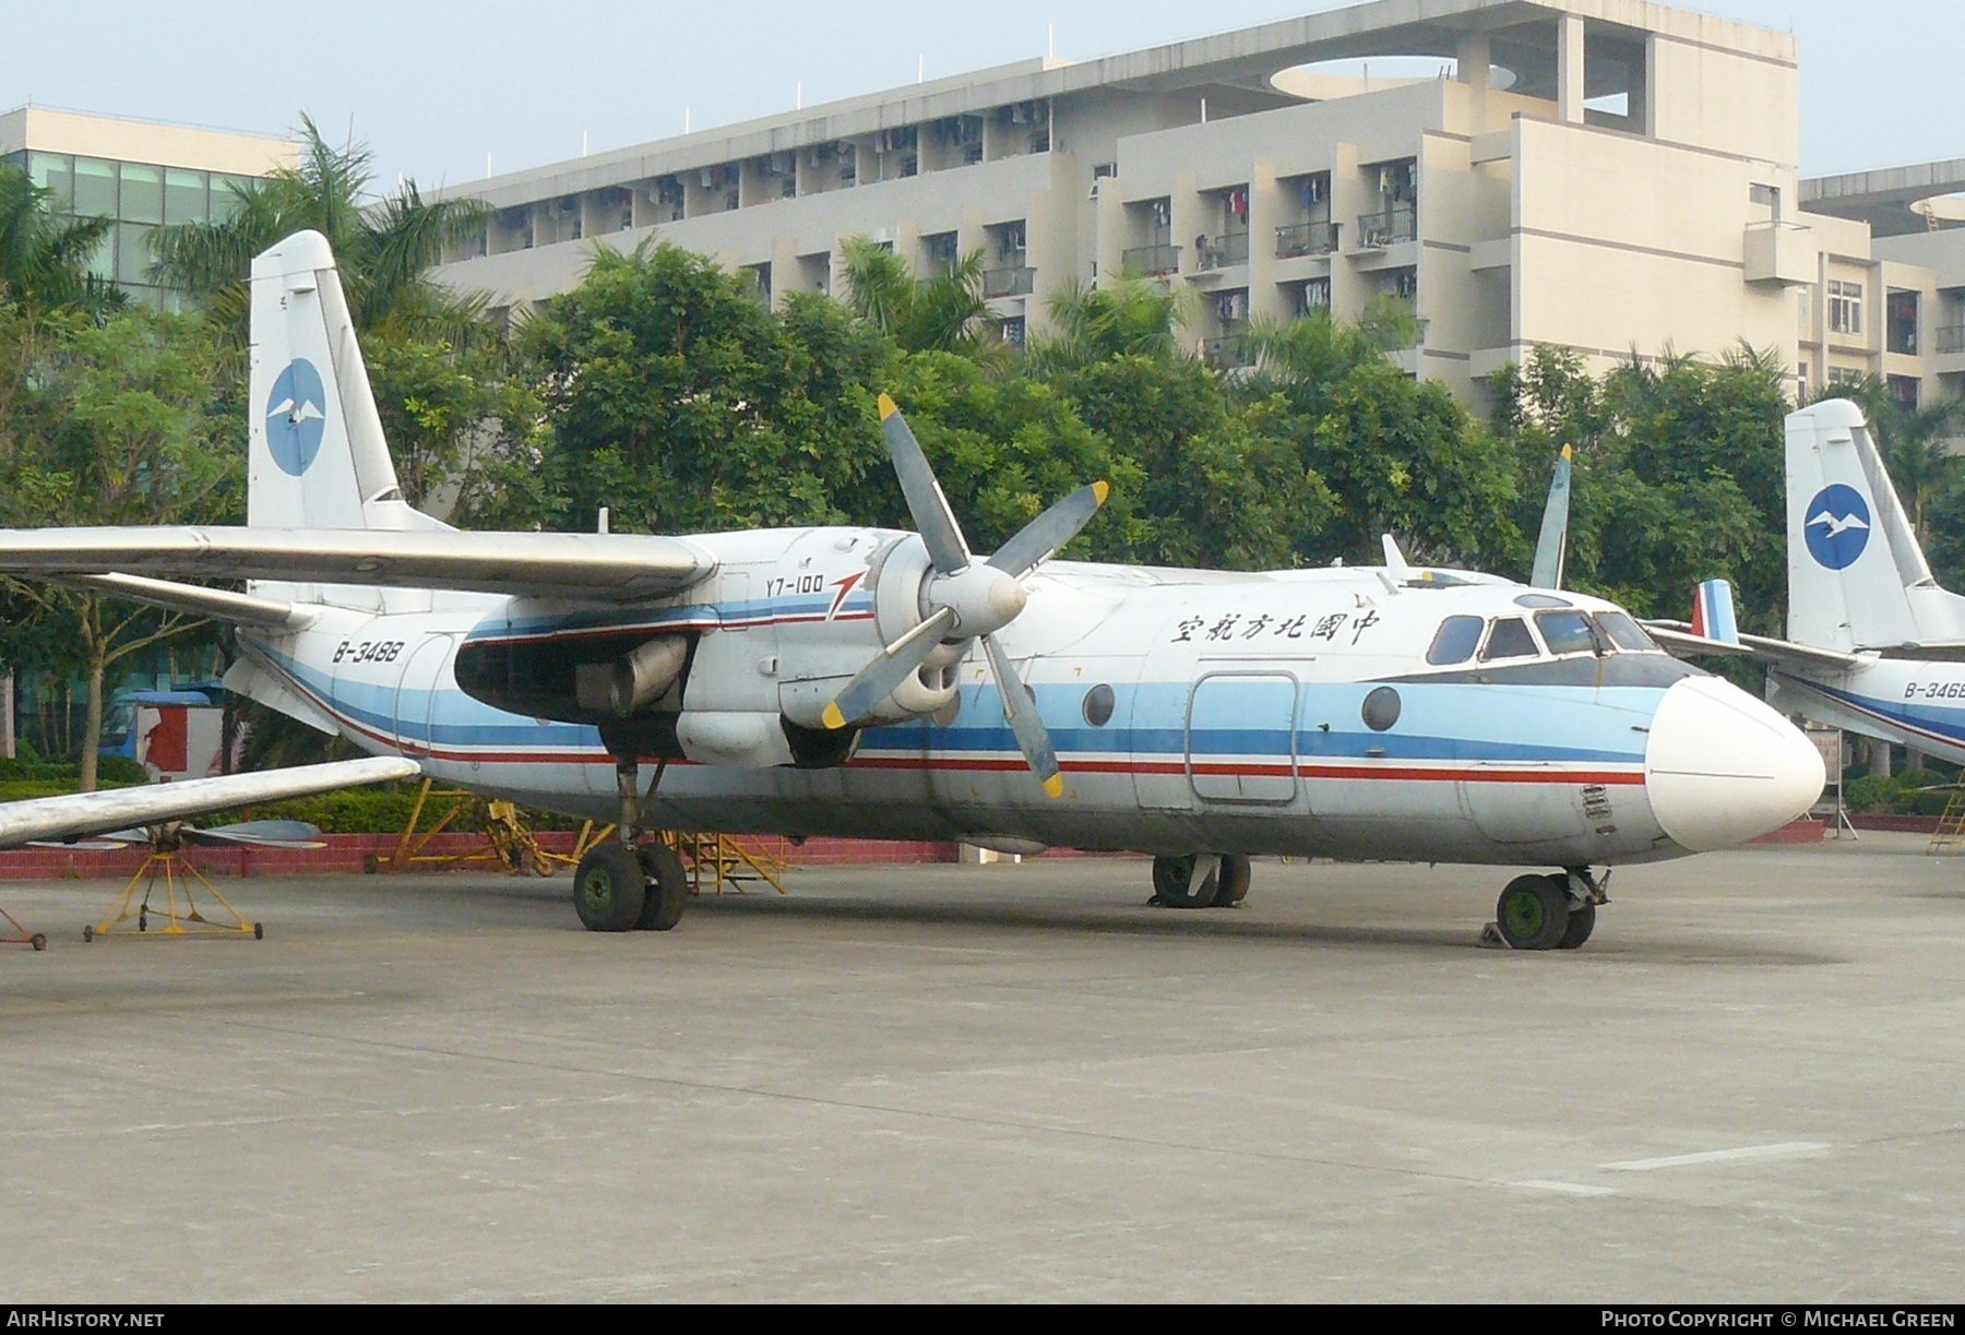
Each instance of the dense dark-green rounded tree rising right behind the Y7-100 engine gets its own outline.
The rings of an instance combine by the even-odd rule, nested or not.
[[[554,525],[591,527],[601,505],[643,533],[867,521],[869,478],[892,492],[874,387],[894,348],[825,297],[780,317],[703,256],[595,246],[521,342]]]

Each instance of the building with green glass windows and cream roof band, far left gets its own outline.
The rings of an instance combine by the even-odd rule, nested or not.
[[[47,106],[0,114],[0,163],[26,167],[35,185],[53,191],[49,206],[57,214],[116,218],[88,267],[157,305],[169,293],[149,279],[149,230],[222,218],[234,185],[297,161],[295,144],[261,134]]]

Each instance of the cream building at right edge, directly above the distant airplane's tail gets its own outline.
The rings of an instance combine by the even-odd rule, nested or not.
[[[1965,159],[1802,181],[1818,271],[1798,295],[1810,387],[1877,376],[1916,407],[1965,395]]]

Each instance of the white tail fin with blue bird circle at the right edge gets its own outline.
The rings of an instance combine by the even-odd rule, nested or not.
[[[1788,639],[1820,649],[1965,643],[1882,456],[1847,399],[1788,413]]]

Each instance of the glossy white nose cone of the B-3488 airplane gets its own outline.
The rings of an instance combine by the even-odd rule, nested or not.
[[[1690,853],[1778,830],[1824,781],[1822,753],[1798,727],[1717,678],[1674,682],[1651,720],[1645,790],[1658,828]]]

